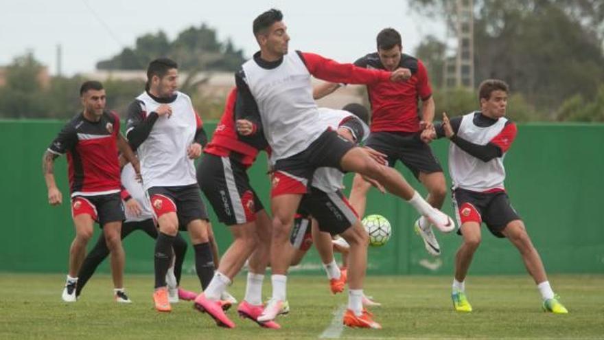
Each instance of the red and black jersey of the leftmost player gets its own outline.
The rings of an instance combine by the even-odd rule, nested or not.
[[[48,150],[67,152],[71,196],[94,196],[119,192],[117,134],[119,117],[104,112],[98,122],[76,115],[65,124]]]

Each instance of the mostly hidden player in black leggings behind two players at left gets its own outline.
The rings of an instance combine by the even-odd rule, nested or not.
[[[157,229],[153,220],[152,209],[149,200],[145,196],[143,185],[136,178],[136,173],[132,164],[128,163],[121,169],[121,200],[126,207],[126,220],[121,227],[121,239],[126,238],[132,231],[144,231],[150,238],[157,238]],[[180,235],[176,235],[174,239],[174,265],[170,267],[168,273],[168,288],[170,293],[170,302],[178,302],[178,297],[183,299],[194,298],[195,293],[185,291],[178,287],[181,282],[181,269],[185,254],[187,253],[187,241]],[[107,242],[105,238],[99,238],[95,247],[88,253],[80,273],[78,274],[78,286],[75,288],[75,296],[80,297],[82,289],[86,282],[92,277],[95,270],[105,260],[109,254]],[[172,277],[173,275],[173,277]],[[172,282],[170,282],[172,281]],[[170,284],[172,283],[172,285]],[[130,302],[128,296],[123,291],[116,291],[115,299],[117,302]]]

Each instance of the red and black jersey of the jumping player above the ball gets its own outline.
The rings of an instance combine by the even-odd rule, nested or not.
[[[380,56],[367,54],[354,63],[367,69],[385,69]],[[411,70],[411,78],[406,82],[377,82],[367,85],[371,102],[371,132],[419,131],[418,100],[428,100],[432,89],[428,80],[428,71],[421,60],[402,54],[399,67]]]

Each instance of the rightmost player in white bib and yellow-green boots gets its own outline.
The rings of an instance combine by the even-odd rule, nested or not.
[[[543,309],[566,314],[568,310],[552,291],[539,253],[504,188],[503,159],[517,133],[516,125],[505,117],[508,92],[502,80],[485,80],[478,89],[480,111],[451,120],[443,113],[443,124],[436,128],[436,137],[451,140],[449,172],[457,232],[463,236],[455,257],[453,306],[460,312],[472,311],[465,295],[465,277],[480,245],[480,225],[485,223],[491,234],[508,238],[520,251],[526,270],[542,295]]]

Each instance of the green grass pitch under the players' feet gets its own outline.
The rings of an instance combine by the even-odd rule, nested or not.
[[[292,276],[288,299],[292,311],[278,319],[281,330],[264,330],[251,321],[229,315],[233,330],[216,327],[190,302],[173,306],[172,313],[156,313],[152,306],[152,276],[126,277],[133,303],[117,305],[111,278],[97,275],[75,304],[61,301],[63,275],[0,274],[0,339],[316,339],[338,335],[329,329],[334,313],[347,295],[331,295],[325,277]],[[231,293],[241,298],[244,276],[235,279]],[[474,307],[456,313],[450,301],[450,277],[369,277],[366,293],[383,303],[373,308],[384,329],[344,329],[342,339],[443,338],[604,338],[604,275],[555,275],[555,291],[570,314],[543,313],[535,285],[528,275],[469,277],[467,294]],[[197,278],[183,277],[183,287],[195,288]],[[270,284],[265,280],[265,295]]]

